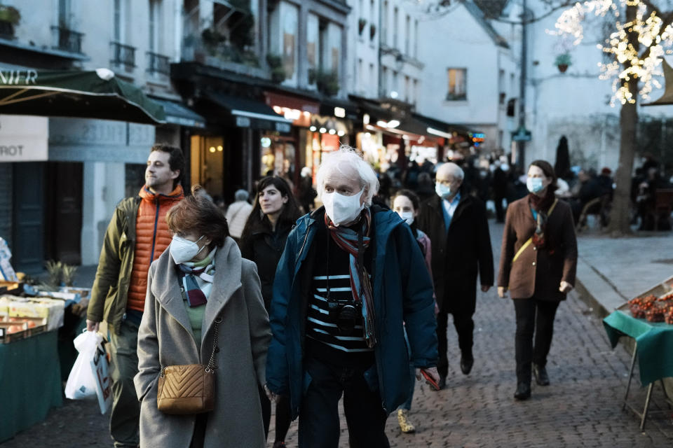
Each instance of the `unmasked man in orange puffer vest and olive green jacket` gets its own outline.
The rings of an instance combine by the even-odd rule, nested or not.
[[[105,233],[86,314],[87,330],[106,321],[110,334],[112,409],[110,435],[115,447],[137,447],[140,403],[133,385],[138,372],[138,327],[147,293],[147,272],[170,244],[166,212],[182,200],[180,148],[152,146],[145,185],[137,197],[122,200]]]

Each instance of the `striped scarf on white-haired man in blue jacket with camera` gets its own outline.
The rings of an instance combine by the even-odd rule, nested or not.
[[[372,292],[372,283],[369,281],[369,274],[365,269],[365,251],[371,241],[369,230],[372,228],[372,212],[369,208],[362,214],[362,229],[355,232],[349,228],[340,225],[336,227],[325,214],[325,225],[329,230],[337,246],[349,254],[349,273],[351,275],[351,292],[355,301],[362,302],[362,318],[365,319],[365,339],[367,346],[372,348],[376,345],[376,329],[374,328],[374,293]],[[329,275],[329,272],[327,273]]]

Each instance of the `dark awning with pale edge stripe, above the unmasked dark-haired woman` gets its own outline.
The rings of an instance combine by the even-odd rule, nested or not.
[[[242,97],[233,97],[217,92],[205,92],[205,97],[226,109],[235,118],[236,126],[254,129],[290,132],[292,121],[278,115],[263,102]]]

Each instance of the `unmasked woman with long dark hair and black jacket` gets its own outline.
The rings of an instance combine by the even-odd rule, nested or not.
[[[276,267],[285,250],[287,235],[299,218],[299,207],[294,200],[290,186],[280,177],[265,177],[259,181],[254,206],[247,218],[240,237],[240,252],[244,258],[257,264],[261,280],[261,295],[268,311],[273,296],[273,278]],[[271,421],[271,401],[260,391],[261,407],[264,414],[264,433],[268,435]],[[276,437],[274,448],[285,446],[285,435],[290,428],[292,416],[290,401],[281,397],[276,402]]]

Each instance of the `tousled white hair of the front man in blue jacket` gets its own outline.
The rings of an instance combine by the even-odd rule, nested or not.
[[[328,153],[322,159],[322,164],[318,169],[318,174],[315,176],[315,182],[318,186],[318,195],[322,198],[322,193],[325,191],[325,176],[332,171],[341,170],[341,165],[348,165],[353,167],[360,176],[360,187],[367,187],[367,195],[365,196],[365,204],[372,205],[372,197],[379,193],[379,178],[376,177],[376,172],[372,169],[365,160],[348,145],[342,145],[339,151]]]

